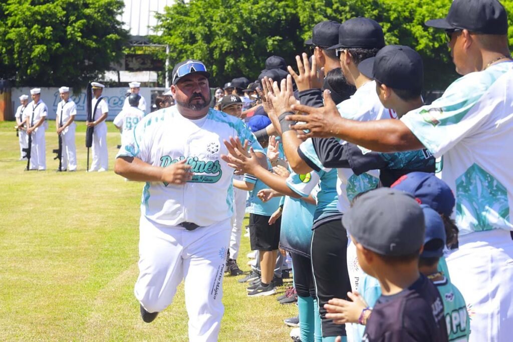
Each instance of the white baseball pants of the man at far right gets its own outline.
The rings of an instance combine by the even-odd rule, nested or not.
[[[458,238],[447,257],[451,282],[463,294],[470,341],[503,342],[513,336],[513,240],[509,231],[474,232]]]

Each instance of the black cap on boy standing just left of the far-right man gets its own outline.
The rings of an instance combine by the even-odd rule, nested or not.
[[[358,70],[365,76],[394,89],[422,91],[422,58],[408,46],[387,45],[375,57],[364,59]]]

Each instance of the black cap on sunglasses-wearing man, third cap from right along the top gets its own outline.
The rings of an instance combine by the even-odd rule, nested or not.
[[[385,37],[380,24],[369,18],[351,18],[339,27],[339,44],[328,50],[338,48],[381,49],[385,46]]]

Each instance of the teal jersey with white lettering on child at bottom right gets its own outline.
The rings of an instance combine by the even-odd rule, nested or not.
[[[449,341],[467,341],[470,335],[470,318],[460,290],[447,277],[433,281],[444,302],[445,323]]]

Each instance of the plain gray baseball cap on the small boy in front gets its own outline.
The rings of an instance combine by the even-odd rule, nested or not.
[[[342,216],[342,224],[363,247],[381,255],[408,255],[424,244],[419,203],[410,194],[390,188],[363,194]]]

